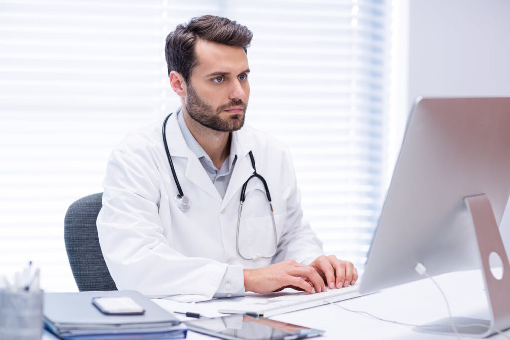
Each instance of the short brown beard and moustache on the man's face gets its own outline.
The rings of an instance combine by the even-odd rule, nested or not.
[[[222,104],[214,109],[200,98],[193,86],[191,86],[191,83],[188,83],[185,106],[188,114],[194,121],[214,131],[234,132],[243,127],[246,103],[241,99],[232,99],[230,102]],[[242,106],[243,110],[235,115],[228,115],[225,118],[220,117],[223,110],[233,106]]]

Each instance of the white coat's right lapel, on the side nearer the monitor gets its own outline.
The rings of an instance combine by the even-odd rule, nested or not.
[[[234,133],[234,138],[236,138],[235,147],[237,160],[234,165],[230,181],[228,182],[225,196],[221,203],[221,209],[223,209],[230,200],[236,197],[238,200],[240,199],[240,197],[237,196],[239,194],[239,190],[246,179],[248,179],[248,177],[253,173],[253,168],[251,167],[251,162],[248,156],[248,152],[251,150],[251,143],[249,142],[249,139],[245,137],[246,136],[242,133],[242,129],[239,132]]]

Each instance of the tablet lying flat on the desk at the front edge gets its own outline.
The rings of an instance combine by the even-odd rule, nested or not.
[[[189,329],[229,340],[290,340],[318,336],[323,330],[267,318],[229,315],[185,321]]]

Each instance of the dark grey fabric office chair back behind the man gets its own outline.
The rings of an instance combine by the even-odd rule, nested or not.
[[[103,193],[80,198],[67,209],[64,241],[74,281],[80,292],[116,291],[97,238],[96,218]]]

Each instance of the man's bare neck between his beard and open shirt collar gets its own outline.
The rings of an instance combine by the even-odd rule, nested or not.
[[[220,132],[203,126],[190,117],[183,108],[184,122],[197,143],[209,155],[216,169],[219,169],[230,153],[230,133]]]

